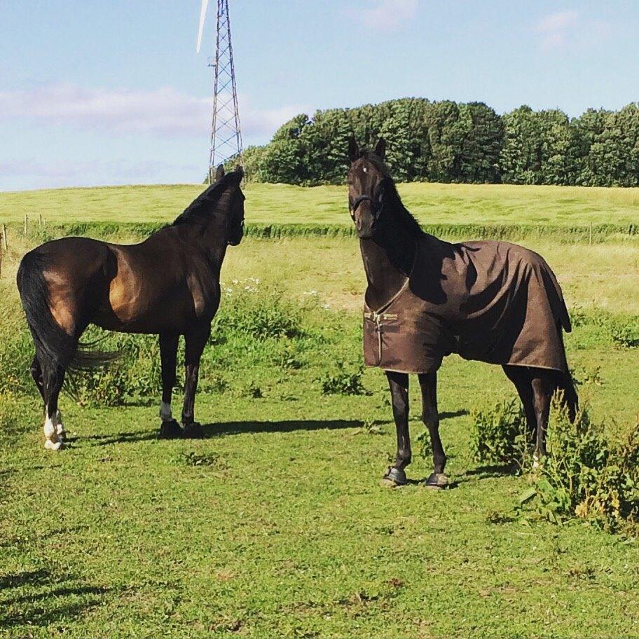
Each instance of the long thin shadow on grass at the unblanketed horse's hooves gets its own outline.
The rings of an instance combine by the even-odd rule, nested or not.
[[[202,424],[204,438],[222,437],[224,435],[239,435],[246,433],[266,432],[295,432],[297,430],[339,430],[347,428],[361,428],[361,420],[280,420],[280,421],[236,421]],[[157,430],[139,430],[123,432],[117,435],[88,435],[70,439],[71,446],[81,441],[91,441],[93,446],[109,446],[109,444],[132,444],[137,441],[151,441],[158,439]]]

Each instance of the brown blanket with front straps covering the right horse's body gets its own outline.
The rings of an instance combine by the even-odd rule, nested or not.
[[[508,242],[451,244],[425,234],[411,275],[382,308],[364,301],[364,360],[436,371],[446,355],[568,371],[570,318],[544,259]]]

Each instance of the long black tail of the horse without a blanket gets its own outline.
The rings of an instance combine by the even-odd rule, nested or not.
[[[44,278],[46,256],[35,251],[22,258],[18,268],[18,291],[27,324],[33,336],[36,355],[43,369],[51,373],[94,369],[111,362],[118,353],[92,351],[93,344],[82,344],[67,334],[51,315],[49,291]]]

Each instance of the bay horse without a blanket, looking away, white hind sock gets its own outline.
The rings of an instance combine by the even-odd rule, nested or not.
[[[89,238],[53,240],[27,253],[18,290],[31,331],[32,376],[45,405],[45,448],[64,447],[58,396],[67,371],[104,364],[112,355],[80,342],[89,324],[110,331],[157,334],[162,360],[161,438],[202,437],[195,422],[200,357],[220,303],[220,270],[228,245],[244,234],[244,173],[224,174],[170,226],[136,245]],[[186,342],[181,426],[171,411],[177,346]]]

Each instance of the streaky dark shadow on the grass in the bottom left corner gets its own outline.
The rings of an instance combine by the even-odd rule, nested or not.
[[[99,605],[109,591],[46,569],[0,575],[0,628],[69,621]]]

